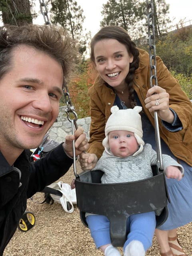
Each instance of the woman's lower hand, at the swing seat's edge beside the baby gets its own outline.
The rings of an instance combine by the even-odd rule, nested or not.
[[[96,165],[98,158],[96,154],[82,153],[79,156],[79,162],[82,170],[91,170]]]

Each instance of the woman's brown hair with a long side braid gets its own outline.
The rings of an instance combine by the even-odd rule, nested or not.
[[[135,70],[139,66],[139,51],[136,48],[136,44],[131,40],[127,31],[124,28],[119,26],[106,26],[101,28],[92,38],[91,40],[91,53],[90,58],[91,61],[95,64],[95,56],[94,56],[94,46],[97,42],[103,39],[116,39],[121,44],[126,46],[126,49],[130,56],[133,56],[133,62],[130,63],[129,72],[126,76],[126,83],[129,88],[130,98],[134,101],[134,88],[133,88],[133,79]]]

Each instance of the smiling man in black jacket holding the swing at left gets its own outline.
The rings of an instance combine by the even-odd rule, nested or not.
[[[74,70],[78,50],[68,34],[52,26],[0,28],[0,256],[30,198],[63,176],[75,154],[88,149],[83,128],[30,162],[59,112],[64,79]]]

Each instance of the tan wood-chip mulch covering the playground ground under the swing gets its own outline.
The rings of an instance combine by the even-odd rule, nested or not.
[[[77,171],[80,172],[78,162]],[[72,167],[60,180],[70,184],[73,177]],[[43,193],[38,193],[36,196],[42,197]],[[59,203],[37,204],[29,199],[27,211],[33,212],[36,217],[34,227],[27,232],[17,229],[3,256],[104,255],[95,248],[89,229],[80,220],[76,205],[74,212],[66,213]],[[186,254],[192,256],[192,223],[178,228],[178,238]],[[122,248],[120,250],[122,252]],[[152,247],[147,251],[146,256],[159,255],[158,243],[154,236]]]

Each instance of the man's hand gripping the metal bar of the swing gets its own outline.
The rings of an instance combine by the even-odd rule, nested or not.
[[[88,150],[89,144],[86,139],[86,134],[82,127],[78,127],[73,135],[67,135],[65,142],[63,143],[63,148],[68,156],[73,157],[73,140],[75,140],[75,156],[78,156],[83,151]]]

